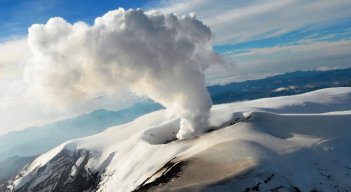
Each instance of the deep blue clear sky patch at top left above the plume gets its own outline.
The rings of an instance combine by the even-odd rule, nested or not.
[[[24,36],[33,23],[45,23],[52,17],[63,17],[74,23],[92,23],[98,16],[118,7],[138,8],[152,4],[147,0],[1,0],[0,39]]]

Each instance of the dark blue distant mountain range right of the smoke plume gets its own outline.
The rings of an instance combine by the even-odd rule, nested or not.
[[[350,87],[351,68],[296,71],[264,79],[208,87],[214,104],[296,95],[330,87]]]

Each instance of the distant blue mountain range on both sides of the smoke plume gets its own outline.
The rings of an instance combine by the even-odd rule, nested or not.
[[[208,87],[213,104],[295,95],[321,88],[351,86],[351,68],[332,71],[297,71],[259,80]],[[44,126],[0,136],[1,179],[18,172],[33,156],[74,138],[94,135],[108,127],[127,123],[162,107],[145,101],[120,111],[97,110]],[[28,158],[27,158],[28,157]],[[19,166],[9,166],[13,162]],[[12,163],[11,163],[12,162]],[[4,166],[7,165],[7,166]]]

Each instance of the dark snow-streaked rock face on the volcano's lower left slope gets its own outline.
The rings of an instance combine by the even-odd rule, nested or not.
[[[88,160],[87,150],[71,152],[64,149],[45,166],[38,168],[31,181],[14,191],[95,191],[100,181],[99,173],[85,169]],[[26,168],[22,172],[25,171]],[[20,173],[17,177],[21,175]]]

